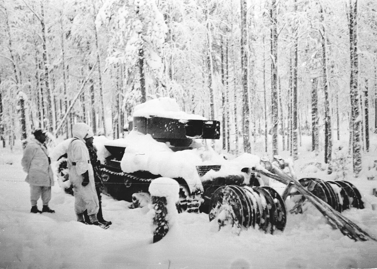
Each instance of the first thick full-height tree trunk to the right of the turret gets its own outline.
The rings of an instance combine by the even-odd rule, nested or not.
[[[248,46],[247,46],[247,1],[241,0],[241,72],[242,72],[242,132],[244,152],[251,153],[250,108],[248,89]]]

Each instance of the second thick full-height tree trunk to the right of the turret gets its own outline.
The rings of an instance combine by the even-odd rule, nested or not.
[[[277,6],[276,0],[272,0],[271,6],[271,20],[272,20],[272,51],[271,55],[273,57],[272,61],[272,154],[279,154],[277,146],[277,128],[279,125],[279,112],[278,112],[278,94],[277,94]]]

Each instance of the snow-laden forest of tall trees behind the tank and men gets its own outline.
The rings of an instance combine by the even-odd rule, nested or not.
[[[328,174],[348,129],[357,176],[377,130],[376,10],[374,0],[2,0],[2,147],[36,128],[71,137],[79,121],[120,138],[135,105],[171,97],[220,120],[232,154],[272,144],[269,154],[296,160],[307,135]]]

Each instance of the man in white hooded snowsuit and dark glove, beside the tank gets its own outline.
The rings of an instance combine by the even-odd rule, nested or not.
[[[73,186],[77,221],[86,223],[83,213],[87,210],[91,224],[107,229],[109,226],[98,222],[97,219],[99,203],[89,151],[85,145],[85,138],[92,137],[93,132],[89,125],[81,122],[72,126],[72,134],[74,137],[67,150],[67,167],[69,180]]]

